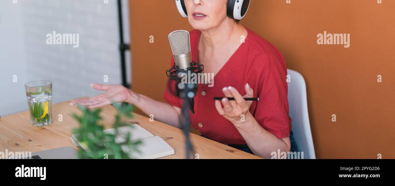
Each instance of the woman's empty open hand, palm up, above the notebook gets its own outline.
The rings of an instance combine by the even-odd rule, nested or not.
[[[73,100],[70,104],[83,105],[87,108],[97,108],[109,105],[113,102],[125,102],[131,97],[132,91],[122,85],[90,84],[96,90],[106,91],[94,97]]]

